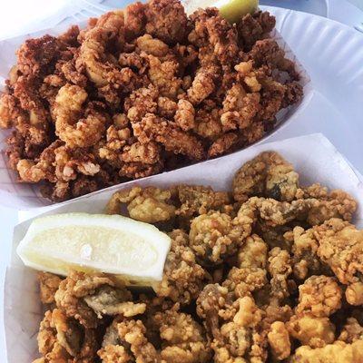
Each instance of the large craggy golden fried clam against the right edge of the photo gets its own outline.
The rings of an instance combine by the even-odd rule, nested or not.
[[[333,218],[314,227],[319,241],[318,256],[327,263],[340,283],[347,285],[351,305],[363,304],[363,231],[348,221]]]

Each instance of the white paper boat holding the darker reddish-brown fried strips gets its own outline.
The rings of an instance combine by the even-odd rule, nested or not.
[[[277,20],[279,21],[279,19]],[[86,25],[86,23],[82,22],[79,25],[80,27],[83,27]],[[61,34],[64,32],[66,27],[67,26],[62,25],[54,27],[53,29],[47,29],[34,34],[26,34],[25,36],[18,36],[16,38],[0,41],[0,84],[3,83],[4,85],[9,69],[13,66],[13,64],[16,63],[15,51],[21,44],[25,42],[25,39],[39,37],[44,34],[51,34],[51,35]],[[309,75],[307,74],[304,67],[301,64],[299,64],[299,60],[292,53],[291,49],[289,48],[289,45],[284,42],[284,40],[282,39],[281,35],[277,30],[274,30],[271,35],[280,44],[280,47],[285,51],[286,56],[296,64],[297,71],[300,74],[300,79],[301,79],[300,83],[304,87],[304,97],[298,104],[289,106],[288,108],[281,110],[280,113],[278,113],[277,127],[274,129],[273,132],[270,132],[270,134],[266,135],[263,139],[261,139],[260,142],[266,141],[271,134],[280,130],[288,122],[292,122],[294,117],[298,116],[298,114],[301,113],[304,110],[304,108],[309,104],[309,101],[313,94],[313,88],[311,85]],[[0,130],[0,150],[5,149],[5,139],[8,136],[8,134],[9,134],[8,131]],[[203,162],[201,162],[200,164],[203,164]],[[4,152],[1,152],[0,153],[0,204],[20,210],[39,208],[52,204],[51,201],[48,201],[42,197],[39,189],[35,185],[18,183],[16,182],[16,178],[17,178],[16,173],[7,168],[6,156]],[[169,178],[171,178],[171,172],[164,172],[163,178],[169,180]],[[74,199],[74,201],[76,200],[77,198]],[[58,204],[62,205],[63,203],[58,203]]]

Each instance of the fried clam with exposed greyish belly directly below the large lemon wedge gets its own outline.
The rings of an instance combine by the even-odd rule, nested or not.
[[[105,274],[72,271],[55,293],[58,309],[78,320],[85,328],[96,328],[103,315],[142,314],[145,304],[132,302],[130,291]]]

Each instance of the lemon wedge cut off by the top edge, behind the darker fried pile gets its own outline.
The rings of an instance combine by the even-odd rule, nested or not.
[[[185,10],[188,15],[198,8],[217,7],[221,15],[231,24],[236,23],[240,16],[254,13],[259,7],[259,0],[186,0]]]

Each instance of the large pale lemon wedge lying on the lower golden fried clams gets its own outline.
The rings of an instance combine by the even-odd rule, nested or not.
[[[17,253],[26,266],[118,275],[129,285],[162,280],[171,240],[152,224],[120,215],[65,213],[32,222]]]

